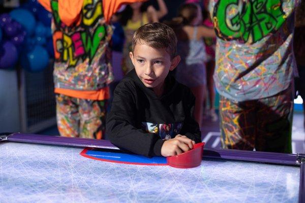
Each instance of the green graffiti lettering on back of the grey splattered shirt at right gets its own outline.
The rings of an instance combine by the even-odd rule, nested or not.
[[[286,20],[281,0],[220,0],[214,17],[220,38],[252,43],[277,31]]]

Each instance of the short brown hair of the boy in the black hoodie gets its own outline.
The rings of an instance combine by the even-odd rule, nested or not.
[[[176,56],[177,37],[169,26],[153,22],[141,26],[132,38],[132,51],[136,44],[147,44],[155,49],[165,49],[171,59]]]

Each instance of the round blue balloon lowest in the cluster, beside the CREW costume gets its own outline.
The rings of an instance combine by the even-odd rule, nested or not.
[[[29,72],[40,72],[49,64],[49,55],[45,48],[36,45],[33,50],[23,53],[21,64]]]

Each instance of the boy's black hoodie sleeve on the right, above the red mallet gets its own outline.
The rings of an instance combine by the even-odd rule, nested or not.
[[[201,143],[201,131],[197,121],[194,118],[195,96],[188,90],[185,98],[185,115],[184,124],[180,134],[185,135],[196,143]]]

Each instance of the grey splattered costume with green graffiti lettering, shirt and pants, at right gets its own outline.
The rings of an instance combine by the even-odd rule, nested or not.
[[[244,129],[252,125],[257,129],[257,123],[261,122],[263,125],[277,126],[268,132],[268,139],[278,142],[278,146],[282,148],[259,150],[291,151],[291,147],[284,147],[291,145],[291,135],[287,133],[286,138],[280,138],[277,137],[277,132],[282,131],[283,127],[291,129],[291,112],[287,111],[292,110],[293,101],[292,96],[285,94],[287,89],[292,87],[295,70],[292,41],[293,12],[297,3],[298,1],[292,0],[210,1],[209,11],[218,37],[214,80],[223,98],[220,101],[223,104],[220,109],[221,128],[225,133],[223,144],[226,148],[243,149],[242,146],[248,144],[251,147],[247,149],[255,148],[255,142],[263,142],[256,140],[259,131],[256,130],[251,135],[254,138],[248,139],[250,135]],[[282,94],[285,99],[278,100],[275,104],[273,97],[278,94]],[[265,98],[270,99],[260,101]],[[273,111],[273,108],[277,109],[282,105],[281,108],[286,108],[287,111],[278,115],[278,121],[288,121],[289,125],[272,123],[272,119],[269,119],[269,116],[273,116],[271,113],[258,117],[260,108],[252,111],[245,105],[253,100],[261,103],[262,109],[267,108],[275,113],[277,110]],[[286,103],[289,105],[283,105]],[[235,108],[235,104],[238,108]],[[233,116],[230,121],[225,120],[224,112],[230,112]],[[253,122],[251,117],[255,117],[256,122]],[[227,127],[227,122],[231,122],[230,128]]]

